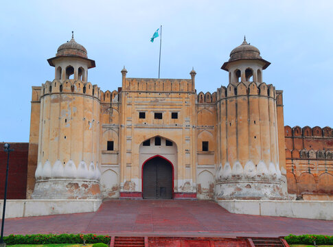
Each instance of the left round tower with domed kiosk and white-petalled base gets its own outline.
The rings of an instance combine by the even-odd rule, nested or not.
[[[41,87],[34,199],[100,198],[100,89],[87,82],[95,61],[72,38],[47,60],[56,78]]]

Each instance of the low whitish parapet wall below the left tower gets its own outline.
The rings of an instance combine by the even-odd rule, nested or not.
[[[5,218],[95,212],[102,200],[7,200]],[[0,200],[0,219],[3,200]]]

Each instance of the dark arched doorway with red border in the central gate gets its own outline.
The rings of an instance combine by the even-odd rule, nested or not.
[[[163,156],[153,156],[143,163],[142,196],[146,199],[171,199],[173,193],[172,163]]]

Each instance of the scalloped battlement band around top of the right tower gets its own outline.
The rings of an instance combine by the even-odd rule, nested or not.
[[[217,89],[217,101],[237,95],[261,95],[276,99],[275,87],[272,84],[267,85],[265,82],[260,84],[251,82],[248,86],[244,82],[240,82],[237,86],[229,84],[227,87],[221,86]]]

